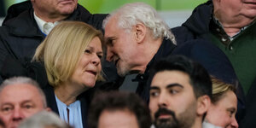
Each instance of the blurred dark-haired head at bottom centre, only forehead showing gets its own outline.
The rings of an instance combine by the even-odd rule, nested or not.
[[[109,91],[94,97],[88,117],[90,128],[149,128],[148,106],[134,93]]]

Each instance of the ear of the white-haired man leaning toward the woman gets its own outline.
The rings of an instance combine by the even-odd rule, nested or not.
[[[146,37],[147,27],[142,23],[138,23],[134,26],[134,34],[137,40],[137,43],[142,43],[144,38]]]

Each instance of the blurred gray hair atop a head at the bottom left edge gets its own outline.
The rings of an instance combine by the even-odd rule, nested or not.
[[[53,112],[41,111],[25,119],[19,125],[19,128],[45,128],[54,126],[56,128],[69,128],[70,126],[63,122],[58,115]]]

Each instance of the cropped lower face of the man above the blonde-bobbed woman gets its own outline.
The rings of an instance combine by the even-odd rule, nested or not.
[[[33,7],[40,13],[70,15],[77,9],[78,0],[32,0]]]

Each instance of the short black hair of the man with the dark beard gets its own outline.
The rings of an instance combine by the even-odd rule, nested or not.
[[[155,62],[150,69],[150,76],[153,78],[156,73],[173,70],[189,75],[196,98],[207,95],[212,99],[212,81],[207,70],[201,64],[191,61],[183,55],[170,55]]]

